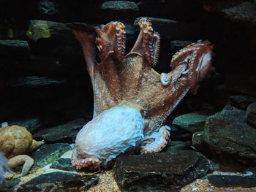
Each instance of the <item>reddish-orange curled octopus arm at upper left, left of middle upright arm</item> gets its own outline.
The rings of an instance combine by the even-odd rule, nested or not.
[[[99,49],[99,58],[103,62],[110,53],[116,53],[116,58],[121,61],[125,53],[126,31],[123,23],[112,21],[102,28],[97,28],[96,43]]]

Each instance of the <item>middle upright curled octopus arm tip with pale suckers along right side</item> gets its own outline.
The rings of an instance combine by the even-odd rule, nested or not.
[[[138,25],[140,26],[140,34],[129,54],[137,53],[142,55],[146,58],[148,64],[154,66],[157,64],[159,53],[159,34],[154,32],[152,23],[146,18],[141,18]]]

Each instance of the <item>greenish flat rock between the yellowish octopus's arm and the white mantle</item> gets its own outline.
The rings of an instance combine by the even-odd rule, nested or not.
[[[61,155],[66,153],[68,150],[72,150],[72,147],[67,143],[54,143],[42,145],[34,153],[31,153],[31,158],[34,158],[34,166],[32,170],[42,168],[56,161]]]

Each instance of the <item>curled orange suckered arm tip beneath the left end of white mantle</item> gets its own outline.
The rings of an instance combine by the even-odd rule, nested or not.
[[[87,167],[90,170],[97,169],[102,161],[99,161],[99,158],[86,155],[86,158],[80,158],[78,151],[76,149],[72,152],[71,163],[76,169],[82,169],[83,167]]]

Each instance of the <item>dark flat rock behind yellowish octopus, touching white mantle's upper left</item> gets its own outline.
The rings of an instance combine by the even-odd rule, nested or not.
[[[45,139],[46,142],[75,142],[75,137],[78,131],[86,124],[89,120],[79,118],[72,120],[61,126],[52,128],[42,129],[37,131],[33,135],[34,139]]]

